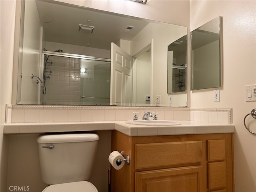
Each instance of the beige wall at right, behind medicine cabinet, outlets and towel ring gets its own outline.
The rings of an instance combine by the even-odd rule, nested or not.
[[[233,108],[236,192],[256,191],[256,137],[243,125],[244,116],[256,108],[256,102],[245,102],[244,88],[256,84],[255,12],[254,0],[190,1],[190,30],[219,15],[223,18],[220,102],[213,102],[213,89],[192,91],[191,107]]]

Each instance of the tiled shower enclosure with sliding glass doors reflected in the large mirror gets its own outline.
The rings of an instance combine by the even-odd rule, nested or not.
[[[42,104],[110,104],[110,59],[46,50],[42,57]]]

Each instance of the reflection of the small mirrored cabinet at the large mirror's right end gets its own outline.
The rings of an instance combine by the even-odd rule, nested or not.
[[[187,90],[187,35],[168,45],[167,93]]]

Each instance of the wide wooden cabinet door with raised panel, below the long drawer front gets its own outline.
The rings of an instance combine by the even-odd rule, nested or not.
[[[135,173],[136,192],[199,192],[202,166]]]

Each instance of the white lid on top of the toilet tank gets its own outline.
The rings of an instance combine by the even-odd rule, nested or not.
[[[71,143],[97,140],[99,140],[99,136],[95,133],[40,134],[36,139],[38,143]]]

